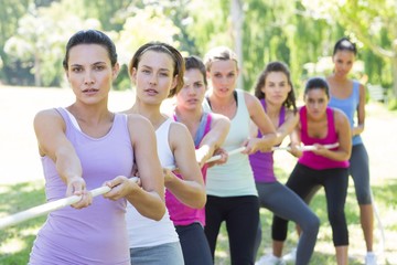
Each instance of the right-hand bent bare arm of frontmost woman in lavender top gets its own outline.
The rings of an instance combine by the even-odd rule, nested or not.
[[[128,128],[142,188],[129,180],[125,197],[143,216],[161,220],[165,213],[164,180],[154,129],[148,119],[135,114],[128,115]]]

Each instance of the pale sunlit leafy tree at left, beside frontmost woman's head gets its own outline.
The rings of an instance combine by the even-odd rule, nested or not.
[[[64,10],[62,2],[44,8],[31,6],[29,13],[20,19],[17,33],[4,45],[9,57],[32,70],[35,86],[60,85],[64,45],[68,38],[82,28],[100,26],[98,21],[83,21]]]

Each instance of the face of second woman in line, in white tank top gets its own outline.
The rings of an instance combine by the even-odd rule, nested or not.
[[[147,51],[132,68],[131,78],[137,87],[137,97],[147,104],[161,104],[176,86],[172,57],[163,52]]]

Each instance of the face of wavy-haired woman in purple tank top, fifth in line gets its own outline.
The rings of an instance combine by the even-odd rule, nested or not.
[[[273,105],[282,105],[291,86],[288,83],[288,77],[283,72],[268,73],[265,85],[261,92],[265,94],[266,100]]]

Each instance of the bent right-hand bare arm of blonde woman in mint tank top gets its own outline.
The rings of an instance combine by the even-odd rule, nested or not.
[[[247,147],[246,153],[254,153],[258,150],[269,151],[276,145],[276,129],[271,120],[266,115],[260,102],[249,93],[244,94],[249,116],[255,125],[262,134],[261,138],[250,138],[245,145]]]

